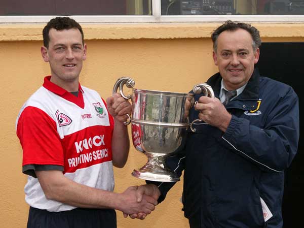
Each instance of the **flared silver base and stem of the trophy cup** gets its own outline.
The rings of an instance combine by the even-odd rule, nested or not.
[[[145,154],[148,157],[148,162],[139,170],[133,170],[132,176],[159,182],[176,182],[180,180],[176,173],[166,168],[166,155],[155,157],[148,153]]]

